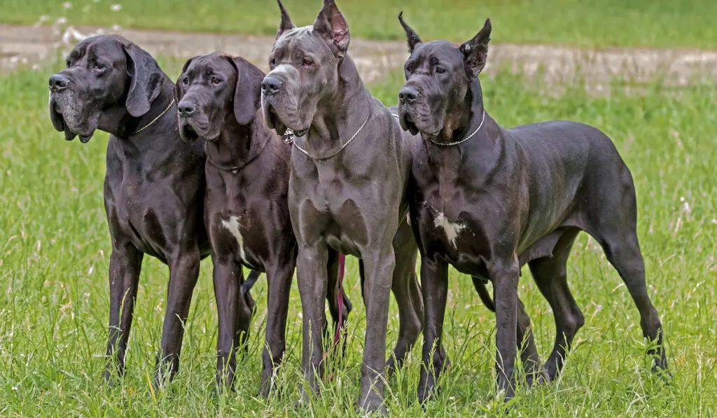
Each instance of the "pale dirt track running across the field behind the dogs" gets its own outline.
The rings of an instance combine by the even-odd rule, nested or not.
[[[213,50],[241,55],[267,69],[273,37],[155,32],[121,28],[0,25],[0,71],[17,67],[39,68],[57,52],[70,49],[82,37],[117,33],[153,55],[186,58]],[[397,41],[351,39],[351,57],[366,82],[375,82],[403,66],[406,44]],[[590,90],[604,91],[615,77],[631,83],[662,79],[680,86],[695,80],[717,80],[717,51],[699,49],[609,48],[580,49],[559,45],[495,44],[485,72],[509,68],[528,75],[538,71],[550,83],[584,80]]]

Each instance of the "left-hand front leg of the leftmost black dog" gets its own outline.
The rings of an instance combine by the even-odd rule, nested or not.
[[[118,245],[113,242],[112,255],[110,255],[110,326],[107,366],[103,373],[103,378],[108,383],[111,383],[115,372],[120,376],[125,372],[125,353],[132,326],[143,256],[143,253],[131,244]]]

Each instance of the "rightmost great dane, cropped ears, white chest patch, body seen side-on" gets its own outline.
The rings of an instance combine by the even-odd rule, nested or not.
[[[554,313],[556,340],[545,368],[555,378],[584,323],[566,281],[580,231],[599,242],[635,300],[642,333],[656,343],[649,351],[653,371],[666,370],[663,329],[637,241],[635,186],[612,141],[589,125],[562,120],[500,127],[483,108],[478,80],[490,20],[460,45],[422,42],[399,20],[410,53],[399,122],[422,137],[410,201],[426,313],[419,400],[435,394],[445,366],[445,356],[431,354],[442,353],[448,265],[493,282],[498,389],[510,399],[516,338],[529,324],[518,300],[521,266],[528,264]]]

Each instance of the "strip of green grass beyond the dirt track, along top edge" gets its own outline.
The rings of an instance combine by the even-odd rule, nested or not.
[[[71,24],[200,32],[276,33],[273,0],[3,0],[0,22],[32,24],[39,16]],[[588,47],[717,47],[717,2],[712,0],[339,0],[351,34],[404,39],[397,14],[424,39],[467,40],[493,19],[495,42],[559,43]],[[120,4],[120,11],[110,6]],[[311,24],[319,0],[286,0],[293,21]]]

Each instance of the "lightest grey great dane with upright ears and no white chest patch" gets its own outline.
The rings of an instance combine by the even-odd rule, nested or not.
[[[366,303],[359,407],[385,412],[391,288],[400,329],[390,369],[401,366],[422,329],[417,247],[406,221],[412,154],[419,140],[404,134],[366,90],[346,53],[348,24],[333,0],[324,1],[308,27],[295,27],[279,6],[282,18],[269,57],[272,70],[262,82],[262,109],[271,128],[295,134],[288,201],[298,240],[303,371],[310,391],[317,392],[324,369],[320,301],[327,292],[326,262],[336,252],[359,257]]]

